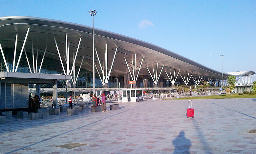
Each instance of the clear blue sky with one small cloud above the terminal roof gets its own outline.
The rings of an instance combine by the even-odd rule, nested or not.
[[[224,72],[256,71],[256,1],[2,0],[0,16],[57,19],[158,45]],[[254,75],[255,76],[255,75]],[[256,77],[254,77],[256,80]]]

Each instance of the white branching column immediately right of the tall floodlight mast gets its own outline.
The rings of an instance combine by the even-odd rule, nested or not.
[[[100,69],[101,69],[101,73],[102,73],[102,77],[98,71],[98,68],[95,64],[95,67],[96,67],[96,70],[98,72],[98,75],[99,75],[99,78],[100,78],[100,81],[103,85],[103,87],[109,87],[108,86],[108,81],[109,81],[109,77],[110,77],[110,73],[112,71],[112,68],[113,68],[113,64],[114,64],[114,61],[115,61],[115,58],[116,58],[116,54],[117,54],[117,48],[116,48],[116,51],[115,51],[115,54],[114,54],[114,57],[113,57],[113,60],[112,60],[112,64],[111,64],[111,67],[109,69],[109,72],[108,72],[108,45],[106,44],[106,51],[105,51],[105,69],[104,69],[104,62],[103,62],[103,67],[101,65],[101,62],[100,62],[100,59],[99,59],[99,55],[98,55],[98,52],[95,48],[95,52],[96,52],[96,56],[97,56],[97,59],[98,59],[98,62],[99,62],[99,66],[100,66]]]

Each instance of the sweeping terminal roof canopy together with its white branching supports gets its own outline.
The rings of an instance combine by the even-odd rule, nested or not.
[[[37,17],[8,16],[0,18],[0,31],[2,48],[15,48],[21,52],[26,49],[27,54],[38,51],[38,55],[60,60],[63,74],[73,75],[74,65],[89,71],[93,69],[92,27]],[[94,35],[97,52],[95,72],[102,76],[103,85],[107,83],[108,76],[129,73],[134,80],[138,75],[147,75],[151,76],[154,82],[158,82],[161,76],[169,78],[172,83],[176,79],[182,79],[186,85],[192,78],[195,83],[199,83],[200,78],[212,80],[213,83],[222,80],[222,72],[159,46],[102,29],[94,29]],[[66,59],[70,59],[73,51],[75,59],[69,62]],[[11,70],[12,66],[9,65],[8,68]],[[34,71],[33,68],[31,72]],[[224,79],[230,74],[244,76],[253,75],[255,72],[224,73]],[[73,81],[73,78],[71,79]],[[74,78],[73,82],[76,80]]]

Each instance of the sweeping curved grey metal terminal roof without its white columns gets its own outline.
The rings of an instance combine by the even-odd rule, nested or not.
[[[66,53],[65,33],[68,33],[68,39],[71,41],[71,51],[76,51],[79,38],[82,37],[76,65],[80,65],[82,56],[85,55],[86,60],[84,60],[82,67],[92,71],[92,27],[37,17],[0,17],[0,41],[2,47],[14,48],[15,35],[18,33],[17,48],[21,49],[28,27],[31,29],[26,42],[27,50],[31,49],[30,41],[33,41],[34,47],[38,46],[42,50],[48,44],[46,56],[54,59],[59,59],[59,57],[53,36],[57,40],[61,56]],[[94,29],[94,34],[95,47],[99,53],[100,60],[104,59],[105,44],[108,44],[109,66],[111,65],[115,48],[118,47],[111,75],[118,76],[128,73],[123,57],[126,57],[128,62],[131,62],[134,59],[134,53],[136,53],[137,64],[139,64],[143,56],[145,60],[142,64],[140,75],[149,75],[146,67],[153,68],[158,63],[159,68],[164,65],[164,70],[167,72],[170,72],[170,70],[173,72],[173,69],[176,68],[181,70],[181,74],[193,73],[195,77],[203,75],[205,78],[222,78],[222,72],[205,67],[159,46],[102,29]],[[64,61],[64,58],[62,60]],[[97,58],[96,65],[98,65]],[[137,69],[139,69],[139,66]],[[253,71],[250,72],[255,74]],[[228,75],[224,73],[224,79]],[[164,71],[161,73],[161,76],[167,77]]]

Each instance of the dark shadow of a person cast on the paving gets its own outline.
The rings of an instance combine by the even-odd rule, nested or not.
[[[185,137],[185,132],[182,130],[173,141],[172,144],[175,146],[173,154],[180,154],[183,152],[190,153],[189,149],[191,146],[191,142],[189,139]]]

